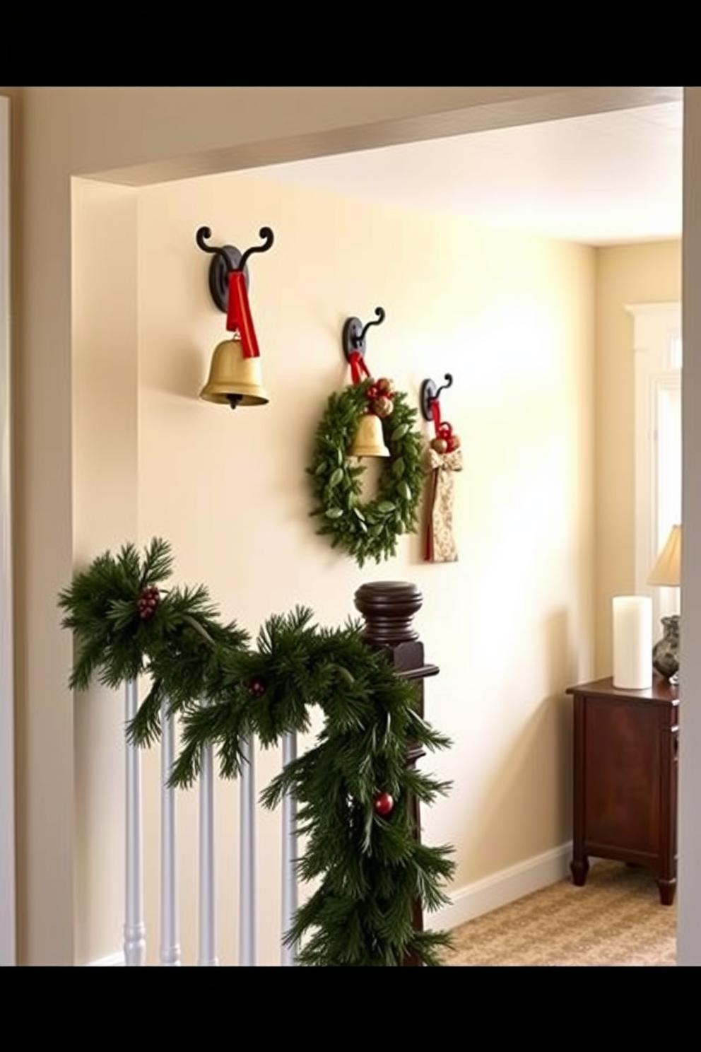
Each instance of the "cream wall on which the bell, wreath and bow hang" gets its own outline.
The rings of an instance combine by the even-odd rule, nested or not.
[[[87,217],[104,187],[83,189],[78,214]],[[109,194],[105,209],[119,215]],[[594,252],[243,175],[142,189],[138,216],[140,543],[154,533],[167,537],[180,580],[206,582],[225,615],[251,631],[270,612],[298,602],[322,622],[338,624],[353,612],[353,593],[364,581],[414,581],[425,594],[418,628],[429,660],[441,668],[427,691],[427,715],[455,743],[433,762],[454,789],[426,814],[426,838],[455,845],[454,890],[559,846],[570,833],[562,691],[590,671]],[[89,251],[76,246],[86,274],[124,239],[117,226],[110,238],[108,222],[82,224],[91,238]],[[242,247],[256,242],[264,224],[275,231],[273,249],[250,265],[271,397],[257,411],[232,413],[197,398],[224,331],[224,317],[208,297],[208,260],[193,240],[204,223],[215,241]],[[100,244],[96,229],[106,238],[100,236]],[[415,259],[417,244],[424,266]],[[309,443],[326,398],[348,380],[339,345],[344,319],[369,317],[377,304],[387,321],[369,341],[376,375],[393,377],[416,399],[426,376],[455,376],[445,401],[466,457],[457,480],[455,565],[425,565],[412,538],[400,542],[395,560],[360,571],[314,534],[307,514]],[[99,309],[92,318],[98,335]],[[84,399],[82,406],[98,433],[104,428],[100,401]],[[115,441],[133,436],[131,398],[128,406],[124,419],[112,418]],[[99,468],[99,447],[91,460]],[[99,519],[104,506],[111,524],[114,503],[92,490],[89,507]],[[106,535],[105,524],[96,524],[94,537]],[[107,532],[115,534],[111,525]],[[105,715],[102,725],[114,719]],[[77,714],[81,720],[87,715]],[[110,746],[103,748],[111,755]],[[77,747],[83,788],[114,809],[94,749],[95,737]],[[276,763],[260,757],[260,786]],[[145,776],[156,793],[156,753],[146,757]],[[224,962],[235,959],[236,798],[235,786],[223,787],[218,797]],[[182,892],[190,903],[182,911],[182,940],[185,959],[193,960],[194,793],[182,794],[180,811]],[[151,932],[158,927],[158,828],[152,795],[145,836]],[[90,903],[102,896],[101,912],[89,915],[79,899],[79,954],[96,957],[119,946],[122,898],[100,885],[90,857],[105,841],[112,846],[104,850],[115,855],[120,825],[106,833],[88,821],[79,833],[90,837],[81,848],[79,886],[91,889]],[[274,816],[264,823],[260,850],[262,955],[274,964]],[[150,950],[158,952],[154,939]]]

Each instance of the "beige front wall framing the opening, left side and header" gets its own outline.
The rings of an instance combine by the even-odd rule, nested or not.
[[[74,699],[66,688],[70,641],[59,627],[55,604],[75,564],[70,177],[147,165],[137,181],[154,178],[153,166],[160,166],[160,178],[172,179],[188,165],[191,175],[198,166],[222,170],[265,163],[266,157],[309,157],[470,127],[617,108],[635,104],[634,95],[639,102],[656,89],[463,87],[446,89],[453,93],[447,99],[442,89],[417,88],[408,106],[397,94],[404,90],[373,88],[368,95],[363,88],[330,94],[323,89],[330,102],[319,113],[301,106],[298,93],[287,88],[0,87],[13,106],[11,321],[21,963],[69,964],[75,958],[77,927]],[[689,178],[688,187],[692,182]],[[413,239],[411,246],[413,250]],[[374,300],[374,289],[371,295]],[[586,546],[579,544],[578,550],[585,552]]]

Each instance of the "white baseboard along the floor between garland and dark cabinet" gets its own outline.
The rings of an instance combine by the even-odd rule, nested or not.
[[[525,862],[502,869],[498,873],[458,888],[451,895],[451,903],[426,917],[427,928],[457,928],[509,903],[530,895],[532,891],[555,884],[569,875],[572,844],[544,851]]]

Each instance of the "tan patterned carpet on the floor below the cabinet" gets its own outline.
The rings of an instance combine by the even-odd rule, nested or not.
[[[652,873],[596,862],[586,885],[561,881],[453,931],[446,965],[675,965],[677,910]]]

